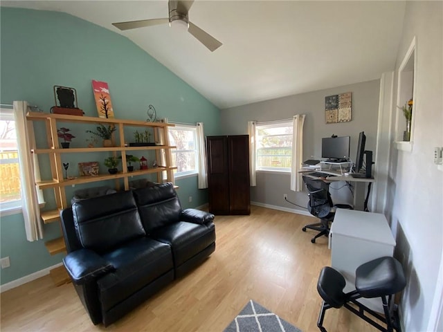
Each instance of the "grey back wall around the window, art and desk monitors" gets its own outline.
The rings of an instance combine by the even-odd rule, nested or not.
[[[345,92],[352,92],[352,121],[326,124],[325,97]],[[221,133],[244,134],[248,132],[248,121],[282,120],[292,118],[295,114],[306,114],[303,128],[304,160],[311,159],[311,156],[320,159],[321,138],[332,134],[351,136],[350,155],[354,159],[360,131],[365,131],[366,149],[375,151],[379,94],[380,82],[373,80],[224,109],[220,113]],[[291,191],[289,180],[289,173],[257,172],[257,186],[251,187],[251,201],[306,212],[307,210],[284,201],[283,194],[287,194],[289,201],[302,207],[307,206],[307,193]],[[353,202],[344,182],[332,183],[330,189],[334,203]]]

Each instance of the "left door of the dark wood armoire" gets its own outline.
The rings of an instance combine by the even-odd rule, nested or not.
[[[209,212],[229,214],[229,172],[227,136],[206,138],[208,158]]]

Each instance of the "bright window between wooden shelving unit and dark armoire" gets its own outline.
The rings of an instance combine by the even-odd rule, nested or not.
[[[192,125],[179,124],[169,129],[172,149],[172,165],[177,166],[174,176],[197,174],[197,128]]]

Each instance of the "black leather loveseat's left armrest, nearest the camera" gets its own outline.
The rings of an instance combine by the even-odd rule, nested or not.
[[[63,264],[74,284],[87,284],[114,270],[114,266],[95,251],[80,249],[70,252],[63,259]]]

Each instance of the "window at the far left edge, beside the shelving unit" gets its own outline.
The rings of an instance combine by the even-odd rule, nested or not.
[[[19,156],[12,109],[0,109],[0,210],[21,206]]]

